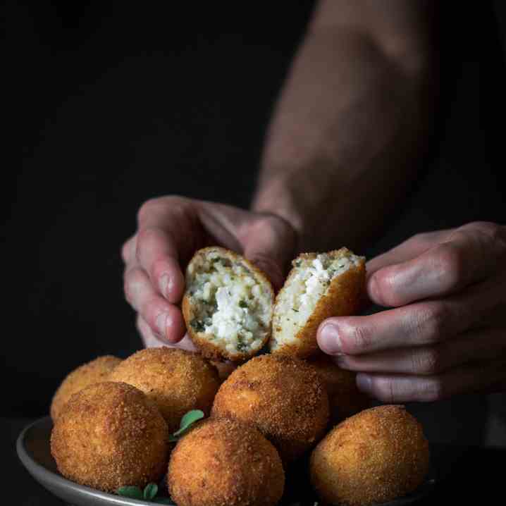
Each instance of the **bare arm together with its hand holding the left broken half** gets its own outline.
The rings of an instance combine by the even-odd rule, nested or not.
[[[388,6],[316,8],[271,121],[251,211],[177,196],[141,206],[122,255],[125,297],[145,345],[192,348],[178,304],[200,247],[244,254],[280,288],[298,252],[359,251],[378,232],[416,171],[431,68],[425,2]]]

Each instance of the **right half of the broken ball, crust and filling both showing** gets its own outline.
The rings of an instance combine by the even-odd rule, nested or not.
[[[362,307],[365,258],[343,247],[302,253],[292,266],[274,302],[269,348],[307,358],[319,352],[316,330],[324,319],[357,314]]]

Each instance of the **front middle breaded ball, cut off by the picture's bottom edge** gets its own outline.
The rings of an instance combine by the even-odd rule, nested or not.
[[[257,429],[209,419],[178,442],[167,481],[178,506],[274,506],[285,473],[276,448]]]

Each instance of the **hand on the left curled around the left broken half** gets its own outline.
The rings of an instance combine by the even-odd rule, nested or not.
[[[183,270],[197,249],[218,245],[244,254],[280,288],[295,240],[288,222],[274,214],[184,197],[145,202],[137,214],[137,233],[121,252],[125,298],[137,311],[144,345],[195,350],[179,304]]]

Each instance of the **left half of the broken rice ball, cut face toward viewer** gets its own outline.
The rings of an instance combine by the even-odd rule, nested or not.
[[[186,269],[183,316],[205,357],[244,362],[271,335],[274,292],[269,279],[235,252],[199,249]]]

